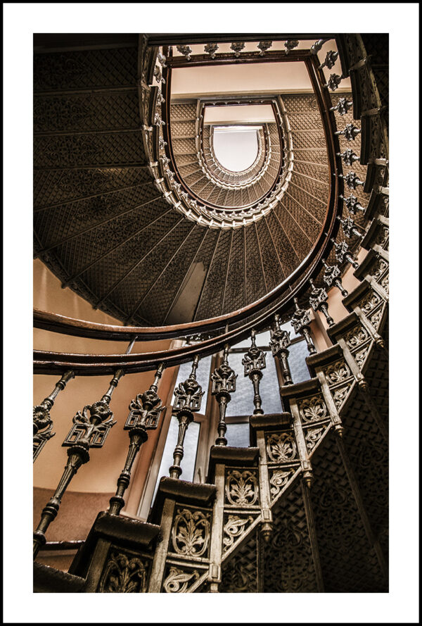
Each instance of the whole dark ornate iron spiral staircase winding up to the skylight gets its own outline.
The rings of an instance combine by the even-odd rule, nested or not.
[[[34,591],[388,591],[385,37],[328,38],[342,70],[329,80],[322,68],[332,67],[333,56],[318,58],[328,39],[314,37],[295,50],[292,35],[281,52],[271,51],[271,42],[243,52],[240,39],[220,58],[288,56],[307,64],[314,88],[261,99],[271,104],[274,123],[262,125],[257,159],[241,174],[219,164],[204,124],[205,107],[221,101],[172,99],[172,68],[217,62],[220,39],[205,38],[205,54],[198,55],[187,35],[178,41],[179,55],[171,37],[146,35],[121,48],[35,50],[34,254],[63,287],[124,325],[106,328],[43,311],[34,311],[34,325],[93,340],[187,341],[162,353],[122,356],[35,351],[34,372],[62,379],[34,412],[34,458],[48,453],[50,411],[67,373],[113,374],[101,401],[73,420],[63,444],[69,461],[41,513],[35,556],[72,475],[115,423],[110,400],[120,377],[157,371],[149,391],[131,403],[128,461],[109,511],[98,514],[68,572],[34,563]],[[352,92],[338,96],[346,77]],[[347,294],[341,278],[350,263],[359,286]],[[196,290],[195,268],[202,277]],[[349,311],[337,323],[328,311],[330,289],[341,290]],[[177,324],[169,325],[175,308]],[[332,345],[321,352],[309,308],[328,323]],[[309,350],[309,380],[296,384],[280,327],[287,320]],[[260,406],[265,373],[254,339],[267,327],[283,373],[283,413],[271,415]],[[227,351],[250,335],[250,446],[233,448],[224,438],[233,389]],[[180,461],[184,432],[200,406],[198,358],[222,350],[212,375],[219,437],[205,483],[186,482]],[[162,369],[191,359],[191,376],[175,392],[181,430],[170,477],[160,480],[148,521],[122,516],[134,455],[160,419]]]

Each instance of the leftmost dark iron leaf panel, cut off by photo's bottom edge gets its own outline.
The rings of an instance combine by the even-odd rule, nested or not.
[[[134,594],[146,591],[146,568],[139,558],[128,558],[124,553],[111,553],[101,577],[101,594]]]

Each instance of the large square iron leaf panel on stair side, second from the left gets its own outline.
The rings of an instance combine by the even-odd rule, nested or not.
[[[178,509],[172,528],[173,549],[185,556],[202,556],[210,541],[210,521],[202,511]]]

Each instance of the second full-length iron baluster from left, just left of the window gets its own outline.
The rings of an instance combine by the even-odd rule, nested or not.
[[[123,430],[129,431],[129,450],[127,452],[126,463],[119,478],[117,479],[117,490],[110,498],[110,515],[119,515],[124,507],[124,492],[129,487],[132,465],[141,445],[148,439],[147,430],[155,430],[158,426],[160,415],[164,411],[161,399],[157,395],[158,382],[160,381],[164,365],[160,363],[153,384],[148,391],[138,394],[129,404],[130,413],[124,424]]]

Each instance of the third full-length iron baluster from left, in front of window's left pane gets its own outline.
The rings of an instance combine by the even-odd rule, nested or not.
[[[170,478],[179,478],[181,475],[181,459],[184,456],[184,438],[188,425],[193,422],[193,412],[200,410],[203,392],[202,387],[196,380],[196,369],[198,368],[198,354],[193,359],[192,371],[185,382],[180,382],[179,387],[174,389],[176,401],[173,405],[173,415],[179,420],[179,434],[177,444],[173,453],[173,465],[170,467]]]

